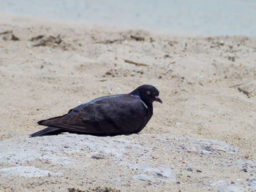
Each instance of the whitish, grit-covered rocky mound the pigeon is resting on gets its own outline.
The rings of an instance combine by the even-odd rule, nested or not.
[[[172,191],[185,182],[198,191],[256,191],[256,162],[214,139],[60,134],[5,139],[0,153],[1,191],[67,191],[67,186]],[[189,182],[192,178],[196,182]]]

